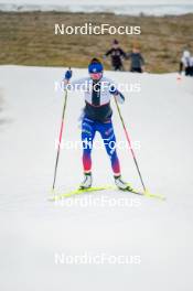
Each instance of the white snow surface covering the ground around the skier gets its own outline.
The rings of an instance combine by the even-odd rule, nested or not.
[[[192,79],[106,72],[116,82],[141,83],[141,93],[127,94],[121,111],[132,140],[140,141],[136,154],[146,184],[167,201],[106,191],[73,198],[71,206],[47,200],[63,105],[54,82],[62,73],[0,66],[0,290],[192,291]],[[86,74],[74,69],[74,77]],[[79,139],[83,105],[81,94],[68,94],[63,141]],[[112,107],[117,139],[125,140]],[[58,191],[78,185],[81,155],[81,149],[61,152]],[[131,155],[120,150],[119,157],[124,177],[140,188]],[[112,183],[105,150],[95,150],[93,159],[95,185]],[[135,204],[81,204],[101,197]],[[55,254],[85,252],[140,256],[140,263],[55,263]]]

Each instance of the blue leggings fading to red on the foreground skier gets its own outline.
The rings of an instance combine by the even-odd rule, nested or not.
[[[92,171],[92,149],[96,132],[99,132],[110,158],[111,169],[115,175],[120,174],[120,164],[116,151],[116,137],[111,120],[101,123],[84,117],[82,123],[82,141],[83,141],[83,168],[84,172]]]

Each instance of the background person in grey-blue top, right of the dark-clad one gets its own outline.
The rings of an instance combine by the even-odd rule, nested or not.
[[[133,45],[132,52],[127,54],[127,58],[130,58],[130,72],[142,73],[144,72],[144,58],[140,53],[137,45]]]

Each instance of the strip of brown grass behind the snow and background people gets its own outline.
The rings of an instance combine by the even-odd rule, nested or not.
[[[126,52],[141,45],[147,68],[174,72],[184,46],[193,52],[193,14],[182,17],[128,17],[96,13],[0,12],[0,64],[84,67],[93,56],[103,57],[112,35],[55,35],[54,24],[109,23],[140,25],[140,36],[116,35]],[[110,62],[105,61],[106,68]],[[129,67],[129,62],[126,62]]]

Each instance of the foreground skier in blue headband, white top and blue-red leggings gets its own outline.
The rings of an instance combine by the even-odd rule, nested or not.
[[[124,103],[125,97],[118,91],[112,80],[104,77],[103,64],[97,58],[93,58],[89,63],[88,73],[89,77],[72,83],[69,83],[72,71],[67,71],[64,75],[64,84],[66,87],[71,85],[71,89],[81,90],[84,86],[85,108],[82,121],[84,181],[81,184],[81,188],[92,186],[92,150],[95,134],[98,131],[110,159],[116,185],[121,190],[129,190],[128,184],[121,179],[116,147],[111,147],[111,144],[116,144],[116,137],[111,121],[112,110],[110,107],[110,98],[115,96],[117,101]]]

